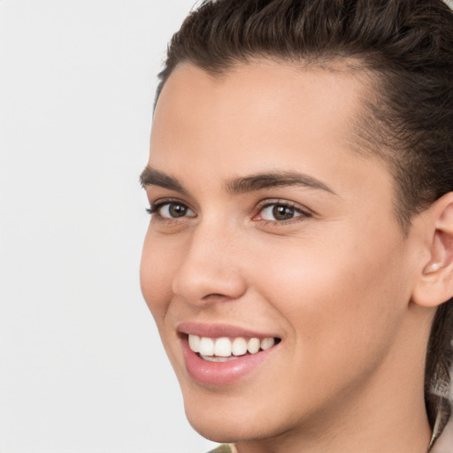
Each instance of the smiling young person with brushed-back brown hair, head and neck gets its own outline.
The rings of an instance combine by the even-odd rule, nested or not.
[[[453,451],[452,74],[441,0],[217,0],[173,36],[142,292],[225,451]]]

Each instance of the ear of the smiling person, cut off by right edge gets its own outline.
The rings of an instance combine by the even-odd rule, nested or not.
[[[421,214],[426,251],[412,301],[436,307],[453,297],[453,192],[441,196]],[[427,257],[427,258],[426,258]]]

